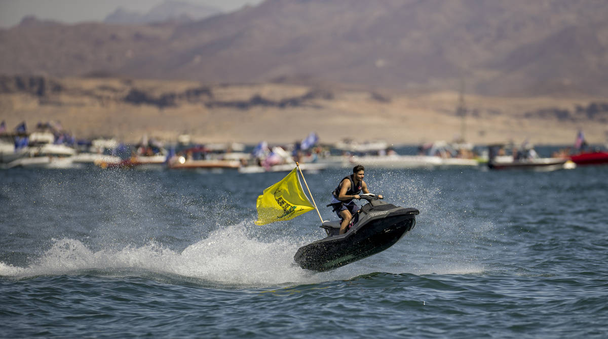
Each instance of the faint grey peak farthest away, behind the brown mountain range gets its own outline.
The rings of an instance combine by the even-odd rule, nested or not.
[[[195,5],[184,1],[169,0],[156,5],[147,13],[133,12],[119,7],[106,16],[106,24],[146,24],[162,21],[189,22],[221,13],[215,7]]]

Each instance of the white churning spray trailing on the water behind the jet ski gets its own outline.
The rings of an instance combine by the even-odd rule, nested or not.
[[[250,238],[239,225],[216,230],[181,252],[154,241],[140,247],[94,252],[75,239],[54,239],[52,247],[28,267],[0,262],[0,276],[22,279],[91,270],[112,276],[146,270],[222,286],[315,283],[322,279],[292,266],[297,247],[290,239],[262,242]]]

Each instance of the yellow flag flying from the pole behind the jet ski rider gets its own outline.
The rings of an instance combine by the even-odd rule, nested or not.
[[[283,180],[266,188],[264,193],[258,196],[255,207],[258,210],[256,225],[293,219],[314,210],[314,206],[302,190],[296,168]]]

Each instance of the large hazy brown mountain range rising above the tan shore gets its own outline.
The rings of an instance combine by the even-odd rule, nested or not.
[[[607,17],[604,0],[266,0],[187,23],[29,19],[0,30],[0,72],[605,95]]]

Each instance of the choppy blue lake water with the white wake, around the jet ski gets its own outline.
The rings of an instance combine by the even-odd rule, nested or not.
[[[348,169],[306,174],[324,219]],[[396,245],[294,265],[311,211],[256,226],[286,173],[0,171],[0,337],[606,338],[608,166],[389,171]]]

